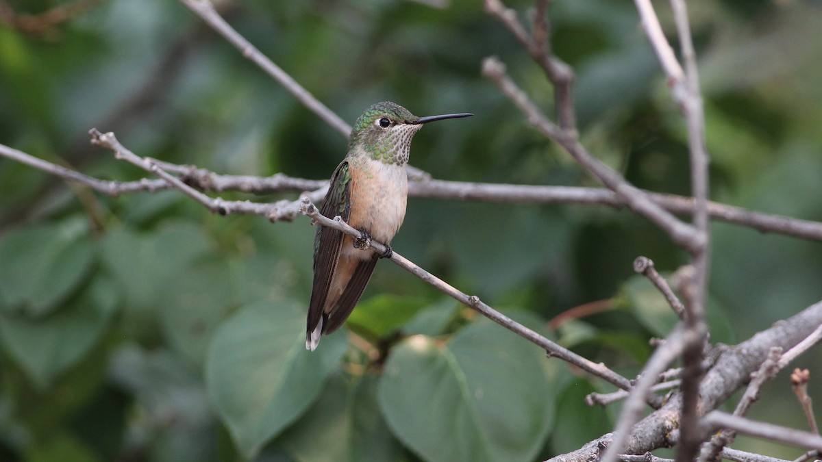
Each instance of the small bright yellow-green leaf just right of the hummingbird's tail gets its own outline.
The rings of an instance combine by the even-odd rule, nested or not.
[[[408,322],[425,304],[423,298],[381,293],[357,305],[348,322],[376,338],[385,337]]]

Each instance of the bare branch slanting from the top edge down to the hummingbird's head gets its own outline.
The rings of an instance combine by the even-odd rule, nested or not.
[[[334,111],[328,109],[325,104],[322,104],[319,99],[306,90],[302,85],[295,81],[288,73],[283,71],[279,66],[272,62],[269,58],[256,49],[242,35],[239,35],[237,30],[234,30],[228,22],[225,22],[222,16],[216,12],[214,6],[209,0],[180,0],[187,6],[194,14],[200,16],[212,29],[216,30],[219,35],[222,35],[230,44],[233,44],[236,49],[242,53],[242,56],[248,58],[265,71],[269,76],[283,85],[285,90],[294,95],[302,104],[304,104],[313,113],[316,113],[322,120],[326,121],[332,128],[343,136],[348,137],[351,133],[351,126],[340,118]]]

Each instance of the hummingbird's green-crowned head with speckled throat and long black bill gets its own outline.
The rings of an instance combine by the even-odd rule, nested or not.
[[[362,147],[372,159],[402,166],[409,161],[411,138],[423,124],[446,118],[469,117],[457,113],[419,118],[399,104],[374,104],[357,119],[351,131],[349,151]]]

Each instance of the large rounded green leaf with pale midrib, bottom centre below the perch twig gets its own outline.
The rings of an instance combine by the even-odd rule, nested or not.
[[[415,335],[390,355],[380,405],[425,460],[532,460],[552,424],[542,349],[491,321],[448,344]]]

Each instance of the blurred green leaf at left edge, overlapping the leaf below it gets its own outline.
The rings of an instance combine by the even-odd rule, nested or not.
[[[13,230],[0,238],[0,306],[44,316],[84,280],[94,261],[81,220]]]

